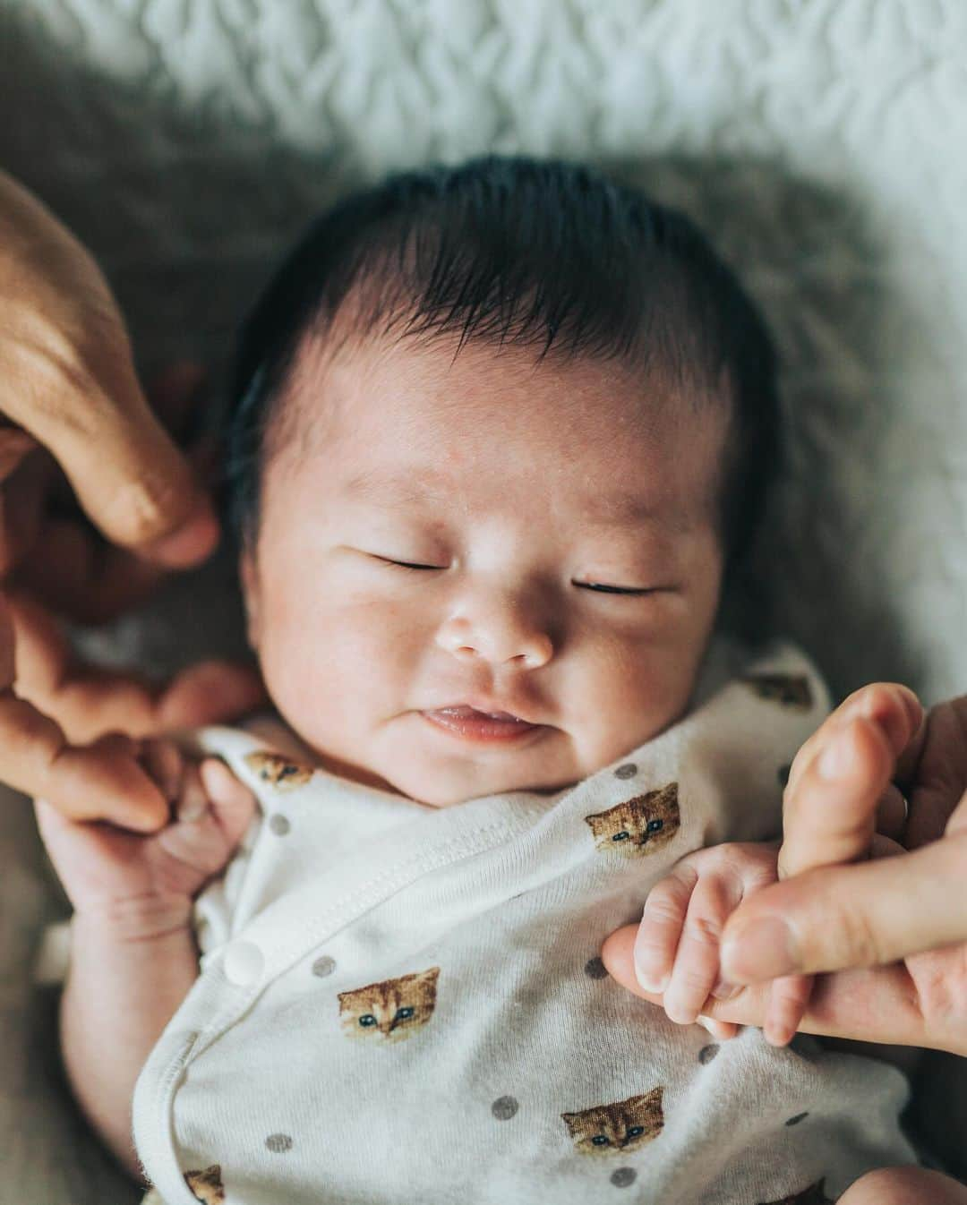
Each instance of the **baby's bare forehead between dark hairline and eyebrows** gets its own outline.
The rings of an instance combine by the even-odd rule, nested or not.
[[[287,441],[333,505],[615,522],[704,502],[728,410],[626,362],[456,339],[306,340],[292,396]]]

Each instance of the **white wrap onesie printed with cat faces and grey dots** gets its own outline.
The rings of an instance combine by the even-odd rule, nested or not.
[[[598,957],[684,854],[778,834],[826,707],[801,654],[719,645],[627,757],[447,809],[313,769],[281,725],[199,733],[263,816],[198,901],[201,975],[137,1082],[152,1199],[824,1205],[915,1162],[893,1068],[715,1044]]]

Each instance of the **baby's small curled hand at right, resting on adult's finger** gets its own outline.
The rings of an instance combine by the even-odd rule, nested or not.
[[[716,845],[679,862],[652,887],[634,941],[634,968],[646,992],[663,997],[672,1021],[691,1025],[709,997],[727,1000],[735,988],[722,981],[719,942],[739,903],[778,878],[778,845]],[[763,1031],[773,1046],[796,1033],[813,977],[774,980]],[[732,1038],[738,1027],[702,1017],[715,1038]]]

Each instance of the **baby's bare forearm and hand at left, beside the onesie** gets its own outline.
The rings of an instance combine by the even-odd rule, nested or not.
[[[198,977],[192,901],[227,863],[254,812],[246,787],[215,759],[188,764],[170,742],[110,737],[170,800],[145,834],[78,823],[36,801],[37,821],[75,907],[60,1010],[64,1063],[96,1131],[135,1176],[131,1098],[147,1056]]]

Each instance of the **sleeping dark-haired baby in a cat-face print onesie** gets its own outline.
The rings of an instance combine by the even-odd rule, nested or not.
[[[229,433],[276,715],[142,746],[158,831],[39,804],[68,1070],[129,1162],[137,1078],[153,1200],[862,1205],[915,1163],[893,1068],[716,1045],[598,957],[684,856],[778,835],[826,707],[713,636],[778,425],[732,274],[582,167],[399,176],[292,252]],[[652,947],[774,874],[679,876]],[[714,940],[681,959],[693,1021]]]

